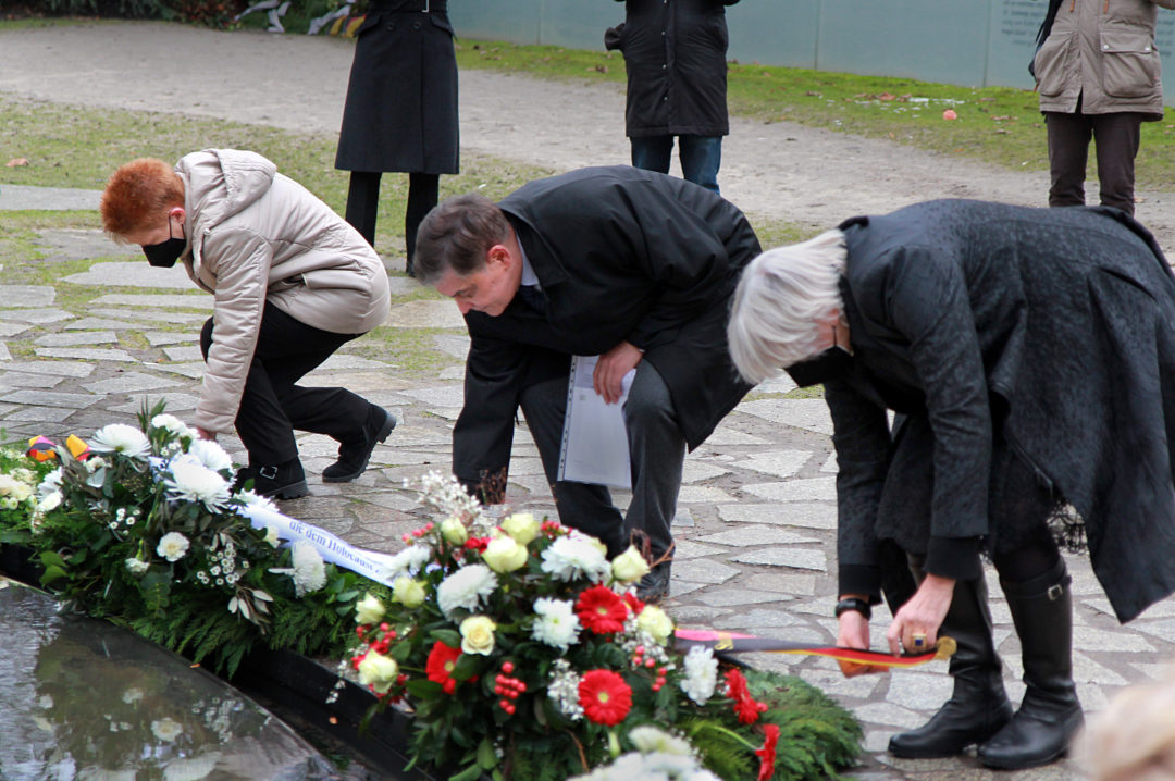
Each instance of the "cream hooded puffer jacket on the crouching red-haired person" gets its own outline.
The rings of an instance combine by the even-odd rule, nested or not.
[[[307,325],[363,334],[388,317],[388,275],[358,231],[261,155],[206,149],[175,173],[190,238],[182,260],[216,296],[194,424],[231,432],[266,301]]]

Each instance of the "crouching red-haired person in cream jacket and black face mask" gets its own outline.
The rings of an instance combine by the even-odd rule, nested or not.
[[[298,379],[382,323],[388,276],[358,233],[261,155],[206,149],[173,168],[141,159],[106,186],[102,224],[155,267],[181,261],[216,301],[201,332],[207,368],[195,426],[234,425],[249,453],[241,482],[263,496],[309,493],[294,430],[340,443],[323,480],[354,480],[395,418],[344,388]]]

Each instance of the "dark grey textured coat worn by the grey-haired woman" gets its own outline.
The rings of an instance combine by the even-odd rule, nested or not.
[[[1116,209],[978,201],[841,229],[841,567],[875,566],[879,538],[925,552],[996,531],[995,419],[1083,518],[1120,620],[1175,591],[1175,277],[1150,234]],[[928,420],[924,452],[888,460],[886,409]]]

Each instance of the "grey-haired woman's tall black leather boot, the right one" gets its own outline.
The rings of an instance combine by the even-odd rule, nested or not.
[[[1020,709],[979,747],[987,767],[1047,765],[1068,750],[1085,716],[1073,682],[1073,597],[1065,561],[1027,583],[1000,581],[1020,637],[1025,691]]]

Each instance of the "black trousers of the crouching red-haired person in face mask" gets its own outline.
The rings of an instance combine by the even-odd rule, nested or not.
[[[236,413],[236,432],[253,466],[275,466],[297,458],[294,430],[342,442],[363,430],[370,404],[345,388],[302,388],[297,381],[361,334],[331,334],[294,319],[268,301],[257,346]],[[200,332],[208,359],[213,318]]]

